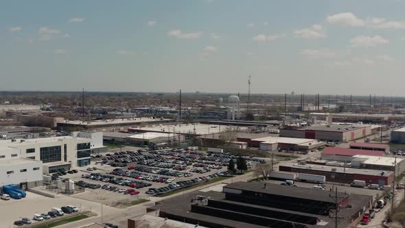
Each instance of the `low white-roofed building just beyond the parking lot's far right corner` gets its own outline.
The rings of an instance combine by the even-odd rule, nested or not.
[[[299,150],[308,151],[325,146],[325,142],[315,139],[297,139],[288,137],[264,137],[253,139],[253,144],[259,144],[260,150]]]

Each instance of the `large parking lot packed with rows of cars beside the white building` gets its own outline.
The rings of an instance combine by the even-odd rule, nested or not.
[[[117,206],[128,199],[159,196],[227,176],[229,159],[235,157],[180,149],[128,150],[95,157],[91,166],[61,177],[86,187],[86,192],[73,197]],[[246,160],[248,164],[264,162]]]

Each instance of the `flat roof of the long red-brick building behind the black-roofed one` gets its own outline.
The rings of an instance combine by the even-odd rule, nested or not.
[[[315,164],[299,164],[297,162],[290,162],[290,163],[283,163],[285,167],[290,168],[297,168],[297,169],[304,169],[304,170],[317,170],[323,172],[338,172],[338,173],[347,173],[347,174],[364,174],[364,175],[371,175],[371,176],[391,176],[393,172],[391,171],[384,171],[384,175],[381,175],[381,170],[367,170],[367,169],[358,169],[358,168],[348,168],[340,166],[326,166],[326,165],[315,165]],[[332,171],[333,169],[333,171]],[[336,170],[335,170],[336,169]]]

